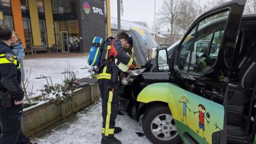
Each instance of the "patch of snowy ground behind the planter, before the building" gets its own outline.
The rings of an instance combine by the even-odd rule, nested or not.
[[[79,78],[88,77],[90,75],[88,73],[88,69],[81,69],[88,67],[86,54],[79,54],[78,56],[72,57],[68,57],[67,54],[64,54],[62,58],[60,58],[58,54],[58,58],[54,58],[54,54],[51,56],[52,58],[36,58],[36,56],[34,56],[35,58],[24,60],[25,72],[28,74],[29,70],[31,70],[28,92],[31,92],[33,86],[33,93],[35,93],[34,96],[40,95],[41,92],[38,90],[41,90],[44,84],[47,84],[45,79],[36,79],[36,77],[40,77],[41,74],[51,77],[53,84],[62,83],[65,74],[61,73],[65,72],[65,69],[67,69],[68,65],[72,66],[74,73]],[[51,82],[49,81],[49,83]]]

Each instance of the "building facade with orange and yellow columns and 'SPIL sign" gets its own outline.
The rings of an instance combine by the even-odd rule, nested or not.
[[[0,0],[0,24],[16,31],[24,46],[88,52],[94,36],[110,29],[109,0]]]

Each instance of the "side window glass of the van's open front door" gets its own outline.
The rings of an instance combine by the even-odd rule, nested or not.
[[[218,58],[228,12],[201,20],[186,36],[179,52],[178,67],[185,72],[204,74]],[[196,36],[196,37],[195,37]]]

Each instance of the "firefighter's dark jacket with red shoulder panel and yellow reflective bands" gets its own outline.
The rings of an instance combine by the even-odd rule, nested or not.
[[[105,63],[99,67],[97,79],[109,79],[111,80],[110,87],[118,89],[117,83],[120,69],[116,64],[123,63],[132,69],[135,67],[136,62],[124,51],[120,40],[109,40],[107,45],[106,52],[102,55]],[[115,63],[115,60],[117,60],[117,63]]]

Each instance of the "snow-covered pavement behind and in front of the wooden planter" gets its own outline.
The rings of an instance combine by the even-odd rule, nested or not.
[[[31,92],[33,86],[34,96],[40,95],[39,91],[47,84],[45,79],[36,79],[41,74],[52,77],[52,82],[62,83],[65,75],[67,65],[72,65],[72,71],[77,77],[87,77],[90,74],[88,69],[81,68],[88,67],[86,62],[87,54],[53,54],[51,55],[29,56],[24,60],[25,70],[31,69],[31,76],[29,78],[28,90]],[[45,58],[46,57],[46,58]],[[48,57],[48,58],[47,58]],[[39,144],[99,144],[101,140],[101,102],[97,102],[90,108],[83,109],[83,111],[71,116],[65,122],[60,122],[53,125],[35,136],[35,140]],[[117,116],[116,125],[122,127],[123,131],[116,134],[116,138],[122,141],[123,144],[150,144],[146,136],[139,137],[136,132],[142,132],[141,125],[132,120],[129,116]]]

